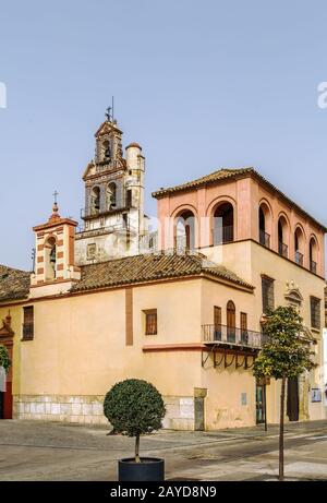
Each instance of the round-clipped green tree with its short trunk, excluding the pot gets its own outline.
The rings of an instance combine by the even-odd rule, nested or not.
[[[126,379],[107,393],[104,412],[117,433],[135,436],[135,462],[140,463],[140,436],[162,427],[166,409],[153,384]]]

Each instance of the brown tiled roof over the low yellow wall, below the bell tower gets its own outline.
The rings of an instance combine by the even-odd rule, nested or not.
[[[92,290],[185,276],[210,276],[251,290],[252,285],[202,254],[157,253],[126,256],[81,267],[82,278],[71,291]]]

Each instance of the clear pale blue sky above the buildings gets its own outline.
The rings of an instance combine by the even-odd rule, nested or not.
[[[31,267],[55,189],[78,218],[111,95],[148,214],[159,187],[255,166],[326,223],[326,2],[0,0],[0,263]]]

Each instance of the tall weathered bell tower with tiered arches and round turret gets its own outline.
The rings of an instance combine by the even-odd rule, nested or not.
[[[75,236],[77,265],[137,254],[147,227],[142,148],[131,143],[123,156],[122,131],[108,110],[95,133],[95,157],[83,175],[84,228]]]

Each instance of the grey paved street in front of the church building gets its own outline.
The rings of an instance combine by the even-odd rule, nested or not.
[[[0,480],[117,480],[117,459],[133,440],[105,427],[0,421]],[[167,480],[276,480],[278,428],[216,432],[160,431],[142,439],[142,455],[166,459]],[[327,421],[286,427],[286,474],[327,480]]]

